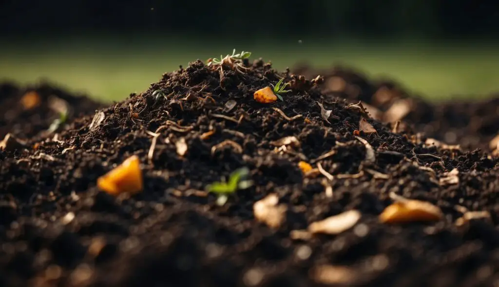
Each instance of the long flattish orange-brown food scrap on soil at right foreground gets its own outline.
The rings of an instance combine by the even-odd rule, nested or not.
[[[407,200],[389,205],[379,215],[383,223],[407,223],[420,221],[438,221],[443,217],[442,210],[430,202]]]

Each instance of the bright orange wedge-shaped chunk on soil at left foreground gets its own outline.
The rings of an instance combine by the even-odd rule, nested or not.
[[[137,155],[130,156],[123,163],[97,179],[99,189],[112,194],[135,194],[143,188],[140,160]]]

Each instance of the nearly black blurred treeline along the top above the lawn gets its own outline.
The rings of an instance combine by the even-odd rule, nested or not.
[[[495,37],[499,1],[0,0],[2,34],[73,31]]]

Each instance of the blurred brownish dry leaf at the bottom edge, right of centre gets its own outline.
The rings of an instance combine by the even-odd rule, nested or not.
[[[348,266],[321,265],[310,271],[310,277],[319,284],[349,286],[357,282],[359,274]]]

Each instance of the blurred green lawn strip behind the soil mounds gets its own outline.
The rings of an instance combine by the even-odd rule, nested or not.
[[[231,43],[227,43],[231,42]],[[236,43],[236,44],[235,44]],[[373,77],[387,76],[432,100],[486,97],[499,91],[499,49],[494,45],[424,45],[296,39],[275,41],[200,39],[175,36],[92,36],[6,41],[0,47],[0,80],[32,83],[40,78],[86,92],[103,101],[141,92],[164,72],[232,49],[270,60],[284,69],[298,62],[317,67],[353,66]]]

